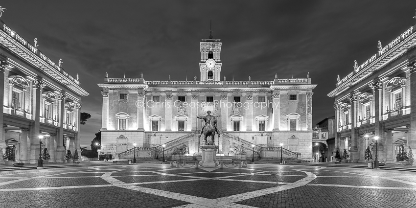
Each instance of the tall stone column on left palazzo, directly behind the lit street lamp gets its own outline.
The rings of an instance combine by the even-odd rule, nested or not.
[[[42,100],[42,89],[44,83],[41,80],[33,80],[33,126],[30,129],[30,164],[36,164],[39,159],[39,126],[40,126],[40,112],[41,112],[41,100]]]

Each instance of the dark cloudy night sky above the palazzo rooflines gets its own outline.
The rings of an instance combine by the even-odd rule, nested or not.
[[[101,127],[101,89],[110,77],[146,80],[199,78],[199,42],[221,39],[222,74],[235,80],[305,78],[318,87],[313,122],[334,115],[337,74],[353,61],[362,64],[416,23],[415,0],[2,0],[1,16],[24,39],[38,38],[39,49],[90,92],[82,112],[81,145],[91,144]]]

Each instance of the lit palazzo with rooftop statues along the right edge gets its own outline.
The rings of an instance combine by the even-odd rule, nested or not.
[[[368,146],[378,160],[394,163],[398,153],[416,147],[416,33],[412,26],[340,79],[328,94],[335,98],[337,134],[333,154],[349,150],[350,161],[364,162]],[[331,150],[330,150],[331,151]]]

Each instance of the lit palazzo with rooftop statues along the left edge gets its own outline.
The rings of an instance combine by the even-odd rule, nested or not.
[[[2,21],[0,28],[0,154],[7,148],[14,161],[36,163],[43,136],[49,162],[66,162],[66,149],[81,153],[81,97],[89,93],[37,48],[37,39],[31,45]]]

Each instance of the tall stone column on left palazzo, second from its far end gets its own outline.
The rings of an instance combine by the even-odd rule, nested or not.
[[[65,158],[65,148],[64,148],[64,117],[65,117],[65,99],[67,95],[65,92],[61,92],[58,95],[58,122],[59,122],[59,130],[58,134],[56,135],[56,157],[55,160],[57,163],[66,162]]]

